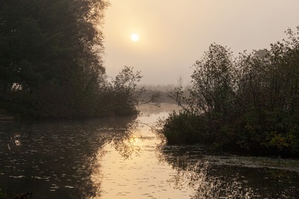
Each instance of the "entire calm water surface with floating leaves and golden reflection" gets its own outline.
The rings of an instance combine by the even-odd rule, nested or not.
[[[8,198],[298,198],[298,160],[166,146],[148,125],[167,112],[142,110],[138,118],[0,123],[0,188]]]

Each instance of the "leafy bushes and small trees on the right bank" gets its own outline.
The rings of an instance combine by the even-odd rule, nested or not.
[[[168,144],[206,144],[255,155],[299,157],[299,27],[270,50],[233,57],[212,44],[194,64],[190,96],[160,121]]]

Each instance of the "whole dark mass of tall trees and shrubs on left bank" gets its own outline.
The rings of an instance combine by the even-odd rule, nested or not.
[[[140,72],[107,81],[105,0],[0,1],[0,115],[84,118],[136,114]]]

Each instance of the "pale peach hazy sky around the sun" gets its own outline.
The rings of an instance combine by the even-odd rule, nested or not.
[[[141,83],[190,81],[192,65],[215,42],[236,53],[269,48],[299,25],[299,0],[109,0],[105,67],[142,71]],[[137,42],[131,34],[139,34]]]

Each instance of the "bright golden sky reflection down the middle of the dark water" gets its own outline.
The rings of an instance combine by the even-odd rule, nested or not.
[[[139,119],[152,122],[149,117]],[[188,198],[187,188],[173,189],[166,181],[175,170],[156,158],[161,140],[147,125],[131,127],[114,135],[103,156],[98,153],[98,167],[91,176],[93,186],[100,189],[93,198]]]

